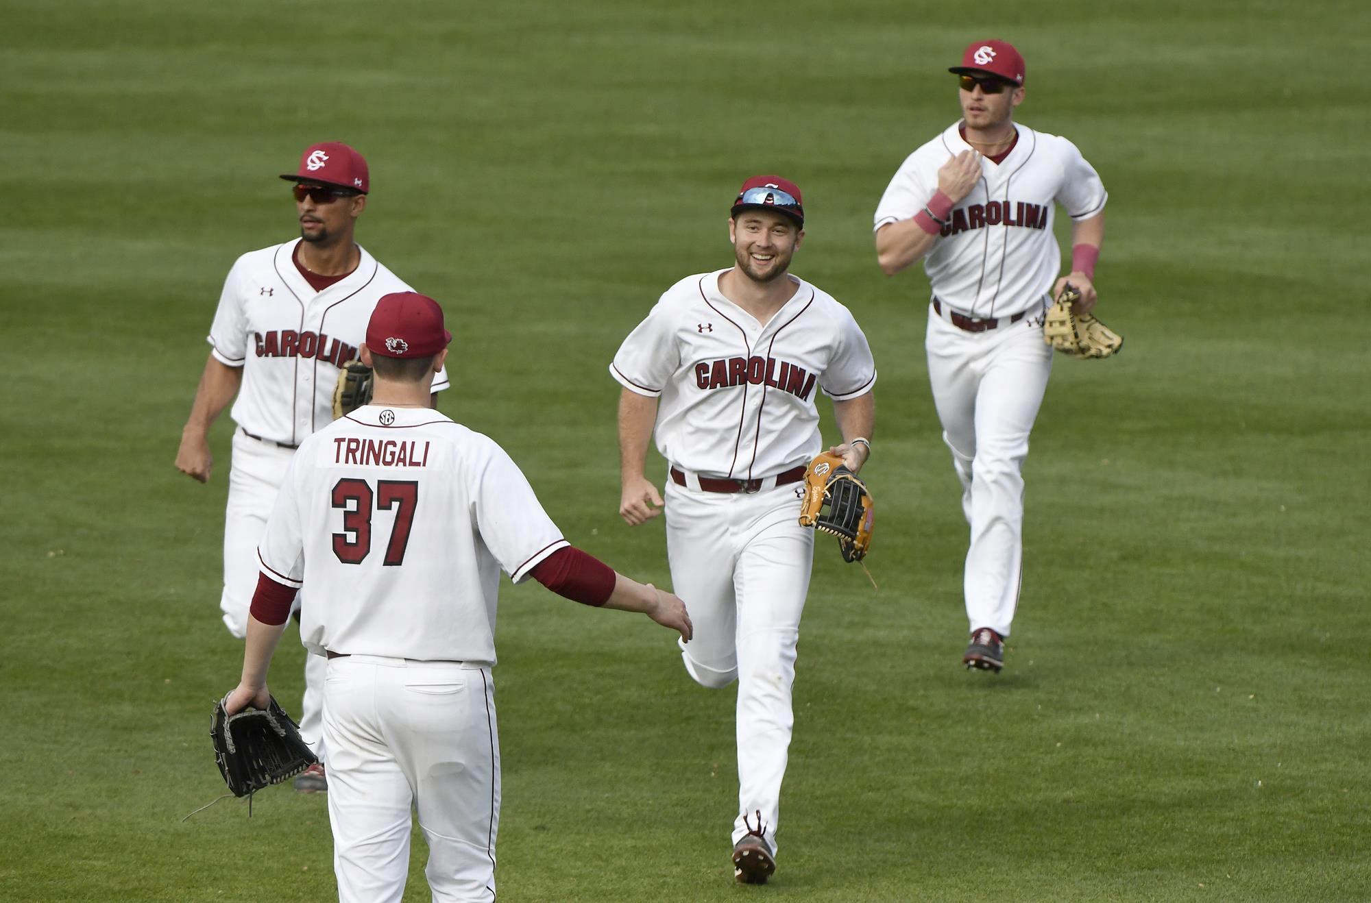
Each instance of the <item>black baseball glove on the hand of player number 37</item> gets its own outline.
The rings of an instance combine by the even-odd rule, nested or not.
[[[214,704],[210,739],[214,762],[234,796],[280,784],[319,760],[274,697],[265,711],[244,708],[236,715],[223,710],[223,699]]]

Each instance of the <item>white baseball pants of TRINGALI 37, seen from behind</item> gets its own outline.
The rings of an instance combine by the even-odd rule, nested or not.
[[[343,655],[328,660],[324,700],[340,903],[399,903],[411,806],[435,903],[494,900],[500,745],[491,669]]]

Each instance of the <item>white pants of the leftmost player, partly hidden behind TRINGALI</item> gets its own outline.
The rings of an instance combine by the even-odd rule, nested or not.
[[[223,626],[240,640],[248,634],[248,610],[252,607],[252,593],[262,567],[256,547],[293,454],[289,448],[244,436],[241,429],[233,430],[229,502],[223,510],[223,592],[219,596],[219,611],[223,613]],[[296,608],[306,593],[307,591],[302,591],[296,596]],[[321,760],[324,671],[322,656],[304,656],[300,737]]]

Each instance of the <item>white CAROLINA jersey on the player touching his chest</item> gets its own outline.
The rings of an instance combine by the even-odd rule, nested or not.
[[[876,206],[876,229],[909,219],[938,192],[938,170],[972,147],[960,122],[910,153]],[[1036,308],[1061,269],[1052,232],[1054,203],[1072,219],[1104,210],[1100,175],[1067,138],[1021,125],[999,163],[982,160],[982,178],[953,207],[924,270],[943,304],[972,317],[1012,317]]]

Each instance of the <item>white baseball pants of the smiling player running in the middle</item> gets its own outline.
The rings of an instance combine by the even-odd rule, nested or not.
[[[754,495],[666,484],[672,589],[690,608],[680,644],[701,685],[738,681],[738,818],[733,843],[760,821],[772,851],[780,784],[794,729],[791,688],[799,617],[809,592],[814,530],[799,526],[803,484]]]

